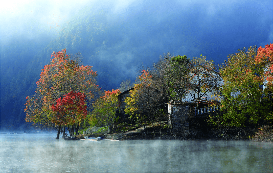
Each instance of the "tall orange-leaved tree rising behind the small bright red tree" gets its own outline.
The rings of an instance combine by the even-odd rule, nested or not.
[[[80,56],[80,54],[76,56]],[[92,67],[79,65],[78,61],[66,54],[65,49],[53,52],[51,57],[54,58],[42,69],[35,90],[35,93],[41,98],[41,107],[37,109],[37,105],[32,105],[34,106],[33,110],[35,110],[32,111],[32,108],[27,106],[25,111],[28,114],[25,120],[27,122],[32,121],[35,124],[41,122],[41,117],[47,117],[58,126],[58,139],[61,125],[67,124],[55,121],[58,114],[52,114],[52,105],[56,105],[58,99],[61,98],[62,100],[64,95],[71,91],[82,93],[88,101],[91,101],[94,99],[94,94],[99,91],[99,87],[96,85],[97,73],[92,70]],[[29,103],[30,100],[27,102]]]

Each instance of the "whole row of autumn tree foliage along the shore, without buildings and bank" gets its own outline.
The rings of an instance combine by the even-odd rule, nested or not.
[[[53,52],[51,57],[41,71],[35,94],[26,98],[25,120],[54,124],[59,130],[61,125],[79,127],[79,122],[86,118],[91,126],[114,127],[119,119],[115,113],[119,109],[120,90],[104,91],[95,97],[100,88],[91,66],[79,65],[65,49]],[[168,52],[153,68],[143,67],[139,71],[137,84],[125,99],[124,111],[138,123],[153,123],[156,118],[168,116],[171,125],[173,113],[167,111],[167,104],[190,101],[198,108],[200,100],[208,97],[222,98],[218,100],[221,116],[208,116],[213,125],[247,126],[272,121],[270,100],[261,102],[265,94],[272,93],[272,58],[272,44],[238,49],[219,68],[206,56],[188,59]],[[92,109],[89,114],[87,105]]]

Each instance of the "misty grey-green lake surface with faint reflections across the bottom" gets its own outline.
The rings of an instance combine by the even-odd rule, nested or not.
[[[272,143],[0,137],[0,172],[272,172]]]

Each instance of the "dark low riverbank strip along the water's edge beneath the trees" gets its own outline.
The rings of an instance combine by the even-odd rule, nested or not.
[[[154,132],[153,132],[154,131]],[[252,134],[252,135],[249,135]],[[113,139],[123,140],[251,140],[253,142],[273,142],[272,126],[264,125],[258,129],[255,128],[225,128],[212,129],[200,128],[189,129],[188,133],[180,134],[179,136],[172,135],[169,128],[161,128],[155,126],[154,129],[149,127],[145,132],[135,132],[130,134],[125,133],[108,133],[108,134],[85,134],[89,137],[109,137]],[[84,135],[78,135],[78,139],[84,139]],[[109,138],[110,139],[110,138]]]

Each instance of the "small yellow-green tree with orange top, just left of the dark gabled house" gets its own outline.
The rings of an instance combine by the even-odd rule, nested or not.
[[[120,90],[104,91],[105,95],[100,96],[92,104],[93,111],[91,112],[90,124],[95,121],[98,125],[113,125],[119,117],[115,116],[115,111],[118,109],[118,94]],[[112,123],[113,122],[113,123]]]

